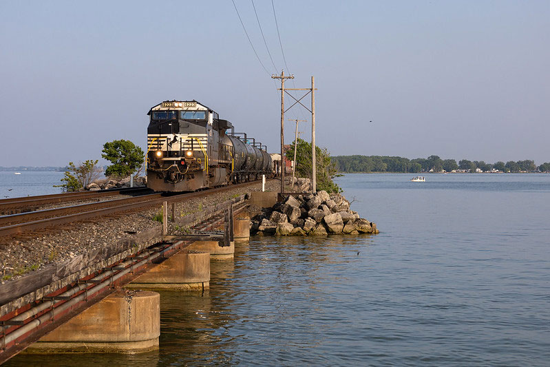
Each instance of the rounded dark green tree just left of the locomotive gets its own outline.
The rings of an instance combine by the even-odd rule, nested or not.
[[[143,150],[130,140],[114,140],[103,145],[101,156],[112,165],[105,170],[106,176],[126,177],[134,173],[144,161]]]

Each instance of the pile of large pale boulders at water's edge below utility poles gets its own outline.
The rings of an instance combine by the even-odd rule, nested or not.
[[[251,234],[327,235],[330,233],[379,233],[377,225],[360,218],[339,193],[288,196],[273,208],[262,209],[252,218]]]

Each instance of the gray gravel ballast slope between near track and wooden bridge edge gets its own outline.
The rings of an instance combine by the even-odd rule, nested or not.
[[[266,190],[275,191],[280,182],[266,182]],[[260,191],[262,182],[247,187],[235,187],[223,193],[213,193],[192,198],[176,204],[176,216],[181,218],[203,207],[219,204],[246,192]],[[87,222],[63,225],[61,233],[38,235],[25,241],[0,243],[1,284],[25,273],[41,269],[51,262],[62,262],[80,253],[86,253],[117,242],[128,236],[128,232],[140,232],[159,224],[153,220],[160,213],[160,207],[135,213],[126,213],[108,218],[95,218]]]

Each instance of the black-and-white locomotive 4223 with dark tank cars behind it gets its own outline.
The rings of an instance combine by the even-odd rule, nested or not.
[[[164,101],[147,115],[147,187],[154,191],[195,191],[272,175],[267,147],[235,132],[202,103]]]

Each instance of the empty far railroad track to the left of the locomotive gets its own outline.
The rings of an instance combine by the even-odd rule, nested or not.
[[[28,196],[24,198],[9,198],[0,200],[0,213],[13,213],[17,211],[27,212],[33,209],[43,207],[44,205],[63,204],[78,200],[93,200],[96,198],[105,198],[114,195],[142,195],[143,193],[153,192],[147,187],[127,187],[121,189],[107,189],[100,191],[77,191],[67,193],[53,193],[50,195]]]

